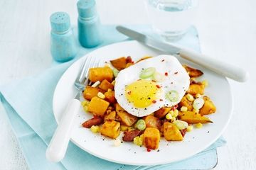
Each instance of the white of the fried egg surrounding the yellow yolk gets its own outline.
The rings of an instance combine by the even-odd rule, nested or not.
[[[133,103],[127,101],[127,98],[125,97],[125,87],[140,79],[139,74],[142,72],[142,69],[148,67],[155,67],[156,72],[163,75],[167,72],[168,76],[164,76],[164,81],[156,82],[156,84],[161,86],[156,103],[152,103],[146,108],[136,108]],[[114,96],[117,99],[117,102],[125,111],[137,117],[154,113],[154,111],[157,111],[164,106],[170,107],[176,105],[181,101],[181,98],[188,90],[190,84],[190,78],[186,69],[184,69],[176,57],[172,55],[159,55],[138,62],[137,64],[120,71],[115,80]],[[166,98],[166,93],[171,90],[178,92],[178,101],[171,102]]]

